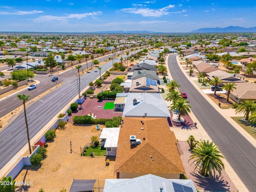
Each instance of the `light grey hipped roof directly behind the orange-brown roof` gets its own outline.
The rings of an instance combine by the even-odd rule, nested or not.
[[[161,93],[128,93],[123,116],[167,119],[170,117],[170,111]]]

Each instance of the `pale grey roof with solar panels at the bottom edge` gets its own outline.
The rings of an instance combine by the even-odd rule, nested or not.
[[[193,180],[166,179],[146,174],[131,179],[106,179],[103,192],[197,192]],[[186,189],[181,191],[180,189]]]

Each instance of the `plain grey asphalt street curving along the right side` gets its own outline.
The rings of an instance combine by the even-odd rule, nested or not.
[[[249,191],[256,190],[256,148],[248,142],[211,104],[194,88],[178,66],[177,55],[170,55],[168,66],[172,78],[186,92],[191,109],[200,124],[228,160]]]

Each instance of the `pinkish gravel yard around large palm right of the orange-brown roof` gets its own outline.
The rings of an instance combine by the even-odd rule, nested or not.
[[[198,190],[215,190],[215,191],[230,191],[236,192],[237,188],[234,186],[233,182],[230,180],[225,171],[222,171],[222,175],[218,174],[216,177],[212,177],[212,179],[204,179],[196,174],[196,170],[194,172],[194,164],[191,165],[192,161],[188,162],[190,159],[191,153],[188,152],[187,148],[189,147],[188,143],[185,141],[179,141],[180,149],[183,154],[180,155],[183,166],[186,171],[186,176],[188,179],[192,179],[196,189]],[[190,166],[191,165],[191,166]]]

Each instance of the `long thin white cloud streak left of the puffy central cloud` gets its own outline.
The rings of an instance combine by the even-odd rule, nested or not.
[[[66,14],[66,16],[52,16],[52,15],[44,15],[44,16],[40,16],[36,19],[33,19],[34,22],[40,22],[40,23],[44,23],[44,22],[64,22],[67,21],[68,19],[82,19],[84,17],[87,16],[92,16],[93,18],[96,18],[95,16],[97,15],[101,15],[102,12],[98,11],[98,12],[92,12],[92,13],[84,13],[84,14]]]

